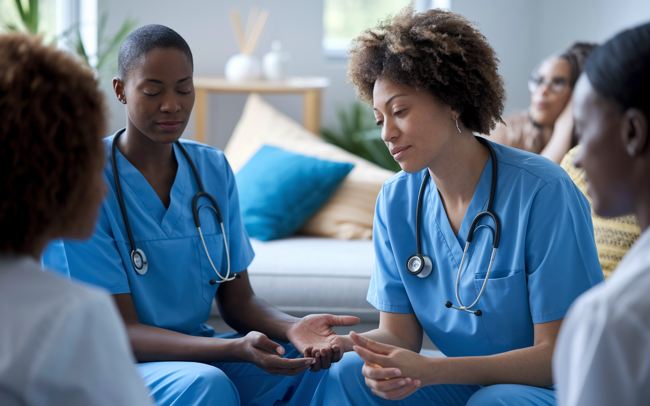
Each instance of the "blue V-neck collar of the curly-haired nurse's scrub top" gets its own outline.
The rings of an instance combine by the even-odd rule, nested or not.
[[[495,153],[498,162],[500,153],[496,148]],[[499,169],[497,167],[497,175],[498,173]],[[492,186],[492,157],[490,156],[489,159],[487,159],[486,166],[483,168],[480,179],[478,179],[478,184],[476,184],[476,189],[474,189],[474,194],[469,202],[467,211],[465,211],[463,221],[460,224],[458,236],[456,236],[454,230],[451,228],[451,223],[447,217],[447,211],[445,211],[445,205],[443,205],[440,192],[438,191],[437,186],[435,186],[433,178],[430,178],[430,183],[432,183],[430,186],[434,187],[430,187],[431,192],[429,193],[429,204],[434,212],[435,221],[445,238],[445,242],[449,247],[452,257],[456,261],[456,266],[460,266],[460,260],[463,257],[463,250],[465,249],[465,243],[467,242],[469,227],[471,227],[476,214],[487,209],[487,200],[489,199],[489,191]],[[498,186],[499,182],[497,179],[497,187]]]

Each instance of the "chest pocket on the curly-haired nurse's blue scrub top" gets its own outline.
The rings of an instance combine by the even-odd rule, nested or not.
[[[480,292],[485,277],[486,273],[474,275],[476,294]],[[534,331],[524,270],[490,272],[478,306],[482,309],[480,320],[492,346],[512,348],[528,343],[532,345]]]

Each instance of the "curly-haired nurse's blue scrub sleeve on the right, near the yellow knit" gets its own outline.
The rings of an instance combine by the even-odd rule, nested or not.
[[[535,324],[563,318],[582,292],[604,280],[591,207],[569,178],[555,179],[538,191],[525,244],[528,303]]]

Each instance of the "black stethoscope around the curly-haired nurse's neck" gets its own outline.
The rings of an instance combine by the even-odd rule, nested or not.
[[[476,214],[476,217],[474,217],[474,221],[472,222],[471,227],[469,227],[469,232],[467,233],[467,242],[465,243],[463,258],[460,260],[460,267],[458,268],[458,276],[456,277],[456,299],[458,299],[459,306],[454,306],[450,301],[445,302],[445,306],[447,308],[453,307],[454,309],[463,310],[469,313],[473,313],[476,316],[480,316],[482,314],[480,310],[473,311],[469,309],[471,309],[476,305],[476,303],[478,303],[478,299],[481,298],[484,290],[486,289],[487,278],[489,278],[489,273],[492,270],[492,264],[494,262],[494,256],[497,253],[497,248],[499,247],[499,238],[501,236],[501,223],[499,222],[499,217],[497,217],[497,214],[492,211],[494,192],[495,189],[497,188],[497,154],[495,153],[492,145],[485,138],[477,136],[476,139],[478,140],[478,142],[486,146],[487,149],[489,149],[489,155],[492,159],[492,184],[489,190],[489,199],[487,200],[487,210]],[[406,260],[406,272],[410,273],[411,275],[417,275],[422,278],[428,276],[434,268],[431,259],[426,255],[422,255],[421,242],[420,242],[420,217],[422,211],[422,198],[424,197],[424,190],[426,190],[426,184],[429,181],[429,177],[430,174],[429,171],[427,170],[426,173],[424,174],[422,185],[420,186],[420,194],[417,197],[417,208],[415,209],[415,239],[416,239],[415,249],[417,250],[417,253],[411,255],[410,257],[408,257],[408,260]],[[486,279],[483,281],[483,287],[478,293],[478,297],[476,298],[476,300],[474,300],[474,303],[472,303],[469,306],[465,306],[463,305],[463,302],[460,299],[460,294],[458,293],[458,286],[460,285],[460,274],[463,270],[463,263],[465,262],[465,255],[467,255],[467,250],[469,249],[469,243],[472,242],[472,238],[474,236],[474,230],[477,228],[476,223],[478,223],[478,221],[484,216],[491,217],[495,224],[494,230],[491,229],[491,227],[489,227],[489,225],[486,224],[482,224],[478,226],[478,227],[487,227],[492,231],[492,257],[489,260],[489,267],[487,268]]]

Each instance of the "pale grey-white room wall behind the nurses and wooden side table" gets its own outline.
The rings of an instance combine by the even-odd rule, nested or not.
[[[331,79],[324,92],[323,125],[337,123],[336,110],[354,100],[346,83],[344,62],[322,56],[322,0],[99,0],[109,10],[107,32],[115,32],[123,19],[133,16],[138,26],[159,23],[187,40],[197,74],[222,74],[227,58],[237,53],[228,10],[247,14],[252,6],[268,8],[270,16],[255,51],[260,56],[272,40],[281,40],[292,55],[289,73]],[[526,79],[539,60],[575,40],[603,42],[625,27],[650,21],[648,0],[452,0],[452,10],[475,21],[497,51],[499,71],[506,80],[506,113],[528,106]],[[107,86],[107,92],[110,88]],[[302,120],[302,101],[296,95],[265,96],[279,110]],[[112,131],[125,125],[123,106],[109,97]],[[239,119],[245,95],[212,95],[209,142],[224,147]],[[192,122],[186,131],[194,134]]]

